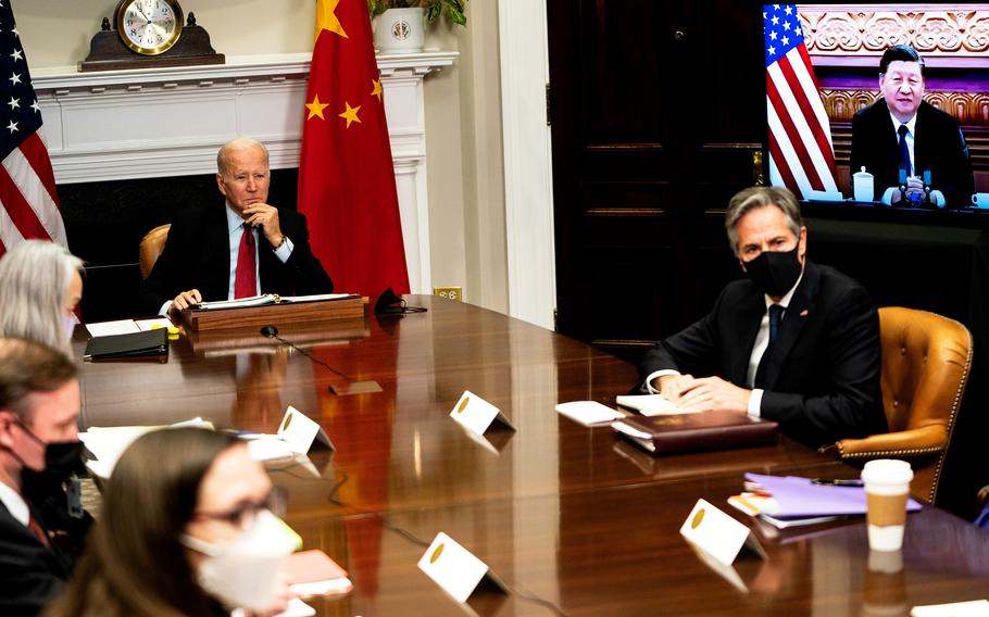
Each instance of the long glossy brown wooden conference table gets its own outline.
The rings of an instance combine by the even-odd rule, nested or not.
[[[428,312],[279,326],[305,353],[246,328],[175,341],[166,363],[86,363],[83,423],[201,416],[275,432],[287,405],[316,419],[336,452],[311,453],[312,468],[272,463],[270,473],[306,547],[326,551],[353,580],[349,594],[313,602],[321,615],[907,615],[989,596],[989,533],[968,522],[925,508],[893,555],[869,554],[863,520],[785,531],[754,524],[726,504],[744,471],[857,471],[786,438],[652,457],[553,408],[611,404],[635,382],[634,366],[476,306],[408,300]],[[381,391],[329,391],[356,379]],[[448,416],[464,390],[517,431],[472,439]],[[699,498],[750,525],[767,558],[743,555],[722,572],[705,565],[679,534]],[[439,531],[510,592],[452,600],[416,567]]]

